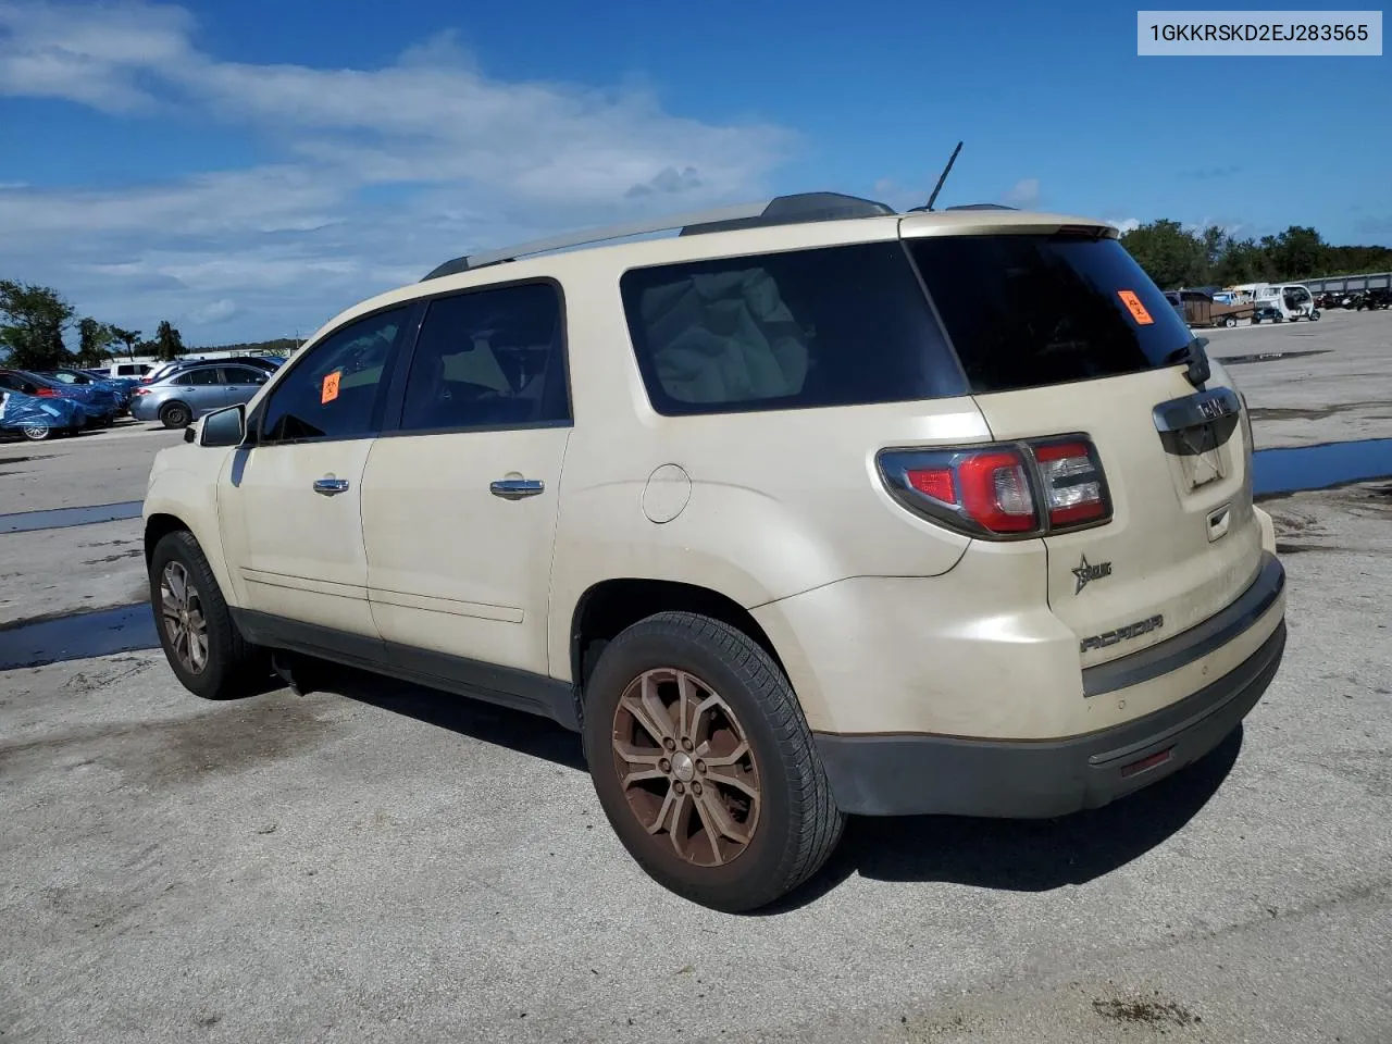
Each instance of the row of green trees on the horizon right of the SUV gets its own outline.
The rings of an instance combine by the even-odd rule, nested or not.
[[[1122,245],[1161,290],[1392,270],[1392,248],[1332,246],[1308,226],[1239,239],[1217,226],[1190,231],[1179,221],[1161,219],[1132,228],[1122,235]]]

